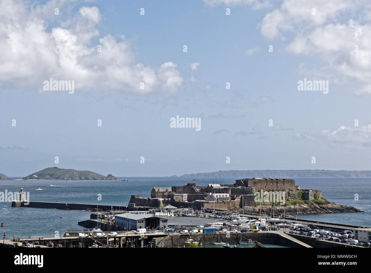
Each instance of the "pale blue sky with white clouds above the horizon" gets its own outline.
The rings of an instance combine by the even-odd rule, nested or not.
[[[369,170],[370,14],[363,0],[0,0],[0,173]]]

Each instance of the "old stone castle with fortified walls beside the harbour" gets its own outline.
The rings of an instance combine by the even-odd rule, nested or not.
[[[187,183],[184,186],[171,188],[153,188],[151,198],[141,198],[132,195],[129,207],[161,208],[172,205],[178,208],[204,208],[231,209],[237,206],[256,207],[255,193],[258,191],[285,192],[286,198],[299,198],[302,200],[319,199],[321,191],[316,189],[301,190],[295,185],[294,179],[274,178],[245,178],[237,179],[232,185],[210,183],[207,186],[198,186],[196,183]]]

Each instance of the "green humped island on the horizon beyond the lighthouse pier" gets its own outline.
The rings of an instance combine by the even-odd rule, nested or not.
[[[111,174],[104,176],[89,170],[59,169],[57,167],[46,168],[32,173],[22,180],[117,180]]]

